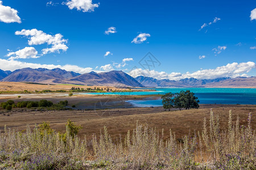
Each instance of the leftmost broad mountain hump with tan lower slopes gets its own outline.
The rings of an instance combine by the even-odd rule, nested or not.
[[[72,78],[73,76],[80,75],[71,71],[61,69],[31,69],[24,68],[13,71],[10,75],[3,78],[2,82],[37,82],[48,83],[56,79]]]

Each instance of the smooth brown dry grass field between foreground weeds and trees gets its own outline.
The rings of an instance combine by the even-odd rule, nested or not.
[[[226,127],[228,124],[228,113],[232,110],[233,121],[240,116],[240,122],[247,124],[247,116],[252,113],[252,128],[256,128],[256,105],[201,105],[200,109],[189,109],[184,111],[164,111],[163,108],[126,108],[126,109],[106,109],[102,111],[11,111],[10,116],[0,114],[0,129],[6,125],[8,128],[16,130],[26,129],[26,125],[31,128],[35,124],[43,121],[50,122],[51,127],[56,131],[65,131],[65,123],[71,119],[76,124],[82,125],[79,136],[86,135],[88,138],[92,134],[100,135],[100,130],[107,126],[113,138],[119,138],[119,134],[124,137],[128,130],[136,127],[136,122],[156,128],[164,129],[165,138],[168,137],[169,129],[175,132],[177,138],[184,137],[194,131],[199,131],[203,127],[203,119],[209,119],[210,108],[215,115],[220,116],[220,126]]]

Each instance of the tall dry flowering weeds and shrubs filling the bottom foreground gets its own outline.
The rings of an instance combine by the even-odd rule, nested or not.
[[[226,129],[221,130],[219,117],[210,112],[202,131],[179,141],[171,130],[170,137],[163,140],[164,131],[139,124],[125,139],[112,139],[104,127],[100,137],[93,134],[89,141],[77,137],[81,127],[70,121],[64,134],[48,125],[27,128],[24,133],[5,128],[0,134],[0,168],[255,169],[251,114],[247,126],[240,126],[239,120],[237,117],[232,124],[230,112]]]

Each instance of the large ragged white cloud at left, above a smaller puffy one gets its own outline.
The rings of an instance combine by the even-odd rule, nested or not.
[[[63,35],[60,33],[52,36],[38,29],[22,29],[22,31],[16,31],[15,35],[26,36],[28,38],[28,45],[40,45],[45,43],[52,45],[51,48],[42,49],[43,54],[60,53],[60,50],[65,52],[68,49],[66,45],[68,40],[63,39]]]

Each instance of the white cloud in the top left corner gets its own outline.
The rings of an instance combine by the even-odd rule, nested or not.
[[[18,11],[9,6],[3,6],[3,1],[0,1],[0,21],[4,23],[21,23]]]

